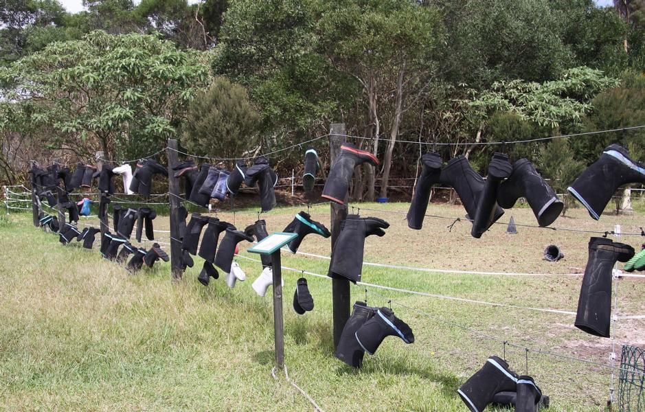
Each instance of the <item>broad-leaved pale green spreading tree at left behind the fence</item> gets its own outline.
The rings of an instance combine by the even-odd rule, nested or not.
[[[14,113],[30,127],[51,127],[52,146],[91,141],[106,156],[136,157],[177,133],[186,106],[209,80],[200,52],[182,52],[155,36],[92,32],[0,69],[1,93],[10,102],[0,127],[10,127]]]

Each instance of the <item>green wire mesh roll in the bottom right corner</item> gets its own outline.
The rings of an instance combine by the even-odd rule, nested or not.
[[[618,411],[645,411],[645,350],[622,345],[620,378],[618,380]]]

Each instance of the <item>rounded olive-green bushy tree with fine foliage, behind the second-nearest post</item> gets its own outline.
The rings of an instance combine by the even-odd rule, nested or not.
[[[197,155],[240,157],[257,144],[259,124],[246,89],[218,77],[191,102],[181,144]]]

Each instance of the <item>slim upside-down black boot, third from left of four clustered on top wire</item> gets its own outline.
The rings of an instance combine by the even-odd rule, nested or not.
[[[493,224],[493,219],[497,220],[501,216],[497,216],[497,209],[499,208],[497,206],[497,190],[501,181],[510,176],[512,170],[513,167],[508,161],[508,156],[503,153],[493,155],[493,159],[490,160],[488,165],[488,176],[486,176],[484,190],[479,195],[477,211],[473,216],[475,218],[471,229],[473,238],[481,238],[482,234]]]

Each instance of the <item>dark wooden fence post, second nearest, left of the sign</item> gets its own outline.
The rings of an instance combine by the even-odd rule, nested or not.
[[[172,166],[179,163],[177,139],[168,139],[168,198],[170,198],[170,274],[181,279],[181,244],[179,243],[179,179],[174,177]]]

